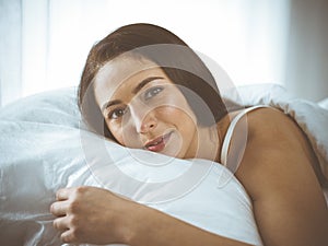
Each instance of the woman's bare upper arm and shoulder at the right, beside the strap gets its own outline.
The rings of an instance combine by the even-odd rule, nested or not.
[[[249,114],[249,140],[236,172],[254,202],[266,246],[328,245],[328,209],[316,157],[297,125],[273,109]]]

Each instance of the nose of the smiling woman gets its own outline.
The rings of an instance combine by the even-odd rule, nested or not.
[[[142,108],[130,107],[130,113],[138,133],[148,133],[156,128],[157,119],[153,110],[144,106]]]

